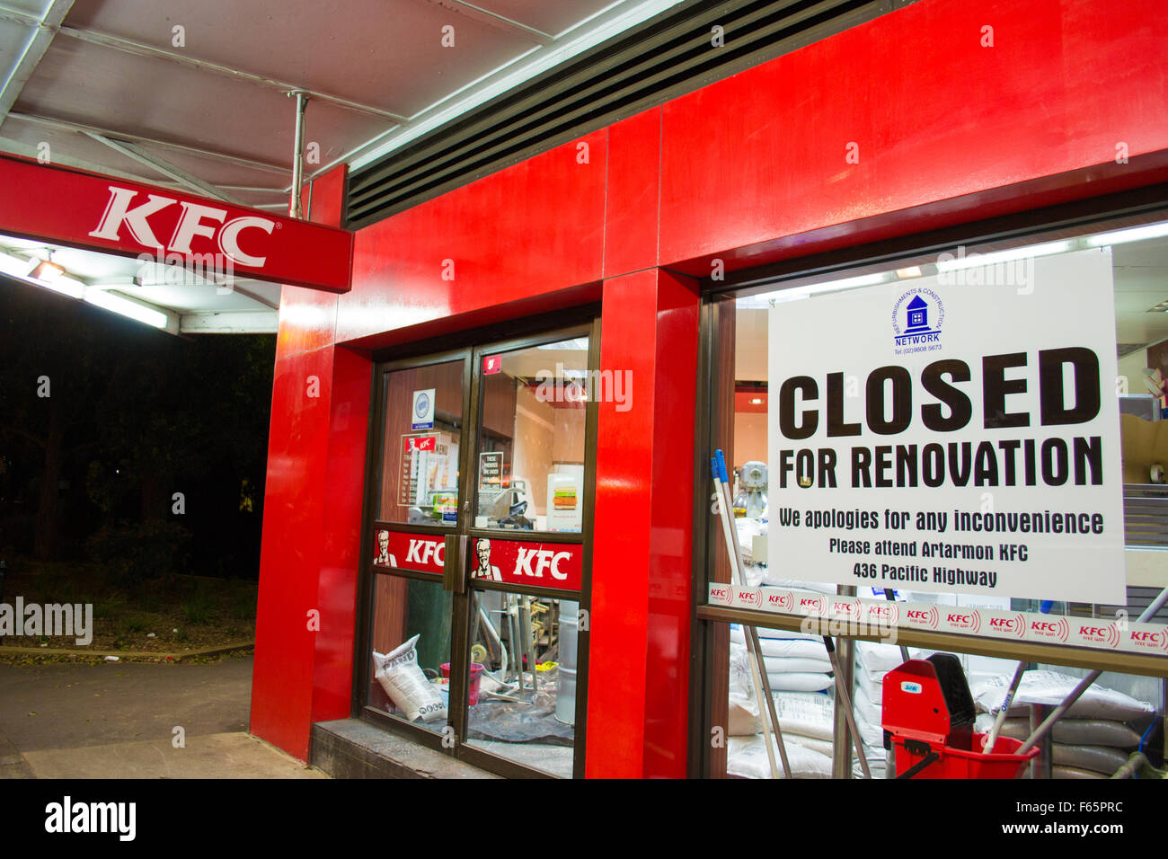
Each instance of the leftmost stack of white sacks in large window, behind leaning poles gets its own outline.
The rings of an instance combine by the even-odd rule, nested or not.
[[[734,630],[742,636],[742,630]],[[774,630],[759,630],[774,632]],[[762,639],[764,657],[767,640]],[[800,640],[800,639],[787,639]],[[811,643],[811,642],[808,642]],[[822,647],[822,642],[819,643]],[[825,651],[826,657],[826,651]],[[790,657],[802,658],[802,657]],[[794,672],[802,673],[802,672]],[[830,683],[830,678],[828,678]],[[783,730],[787,762],[793,778],[832,777],[832,730],[834,725],[832,698],[819,692],[774,692],[774,709]],[[766,756],[766,740],[763,726],[766,723],[758,712],[758,699],[751,681],[746,645],[730,643],[730,718],[726,729],[726,773],[744,778],[770,778],[771,769]],[[781,775],[778,744],[770,737],[774,761]]]

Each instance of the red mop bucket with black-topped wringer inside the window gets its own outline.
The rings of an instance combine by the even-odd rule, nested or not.
[[[885,748],[896,746],[897,778],[1014,778],[1035,755],[1016,754],[1022,743],[999,736],[981,754],[985,734],[973,733],[969,685],[957,657],[937,653],[910,659],[884,676]]]

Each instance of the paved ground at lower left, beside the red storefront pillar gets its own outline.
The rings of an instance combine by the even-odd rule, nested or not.
[[[0,778],[327,778],[246,733],[251,664],[0,664]]]

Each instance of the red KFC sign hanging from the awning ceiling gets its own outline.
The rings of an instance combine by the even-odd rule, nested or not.
[[[353,234],[221,200],[0,155],[0,233],[195,269],[348,292]],[[206,273],[203,273],[206,272]]]

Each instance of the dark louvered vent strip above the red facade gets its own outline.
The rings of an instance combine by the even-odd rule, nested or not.
[[[689,2],[485,103],[349,176],[364,227],[566,140],[909,5],[904,0]],[[711,44],[723,28],[723,47]]]

